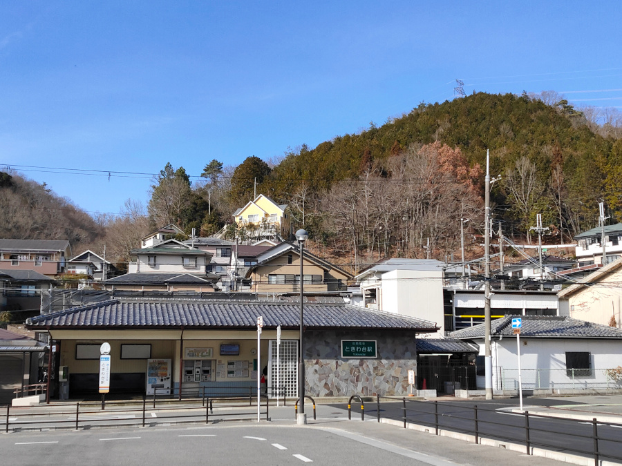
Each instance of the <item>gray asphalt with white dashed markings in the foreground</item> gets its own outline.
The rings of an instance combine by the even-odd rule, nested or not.
[[[0,436],[6,465],[370,465],[455,466],[337,429],[236,425],[50,431]]]

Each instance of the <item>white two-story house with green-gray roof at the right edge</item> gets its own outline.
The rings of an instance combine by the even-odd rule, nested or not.
[[[579,266],[603,264],[603,228],[597,226],[574,236],[577,246],[574,255]],[[605,225],[605,265],[622,256],[622,223]]]

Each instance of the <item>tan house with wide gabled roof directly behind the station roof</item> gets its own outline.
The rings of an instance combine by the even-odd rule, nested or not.
[[[300,253],[296,244],[283,242],[257,256],[245,278],[251,279],[256,293],[292,293],[300,291]],[[303,250],[305,293],[346,291],[352,274]]]

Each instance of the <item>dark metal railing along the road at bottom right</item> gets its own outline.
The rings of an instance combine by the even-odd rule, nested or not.
[[[566,450],[593,456],[595,466],[599,466],[601,458],[622,461],[622,456],[618,453],[621,441],[619,432],[603,432],[603,427],[619,429],[622,428],[622,423],[609,423],[597,420],[597,418],[581,421],[518,410],[516,410],[518,412],[511,413],[514,416],[506,416],[503,418],[504,422],[500,422],[499,416],[504,416],[504,414],[496,409],[408,398],[377,396],[376,405],[377,422],[381,422],[381,418],[386,418],[401,420],[404,428],[408,427],[408,424],[433,427],[436,435],[440,435],[442,429],[456,431],[473,435],[475,443],[480,443],[482,436],[492,440],[505,440],[508,443],[525,445],[527,455],[533,454],[534,446],[543,449]],[[350,402],[348,402],[348,414],[349,408]],[[383,415],[381,415],[381,410],[384,412]],[[350,418],[349,415],[348,418]],[[505,427],[505,430],[501,427]],[[545,434],[553,434],[558,441],[550,441],[551,436],[548,436],[547,440]]]

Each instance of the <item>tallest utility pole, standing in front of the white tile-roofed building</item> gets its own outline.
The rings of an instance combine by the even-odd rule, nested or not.
[[[486,177],[484,177],[484,369],[486,399],[492,400],[492,353],[490,348],[490,151],[486,150]]]

